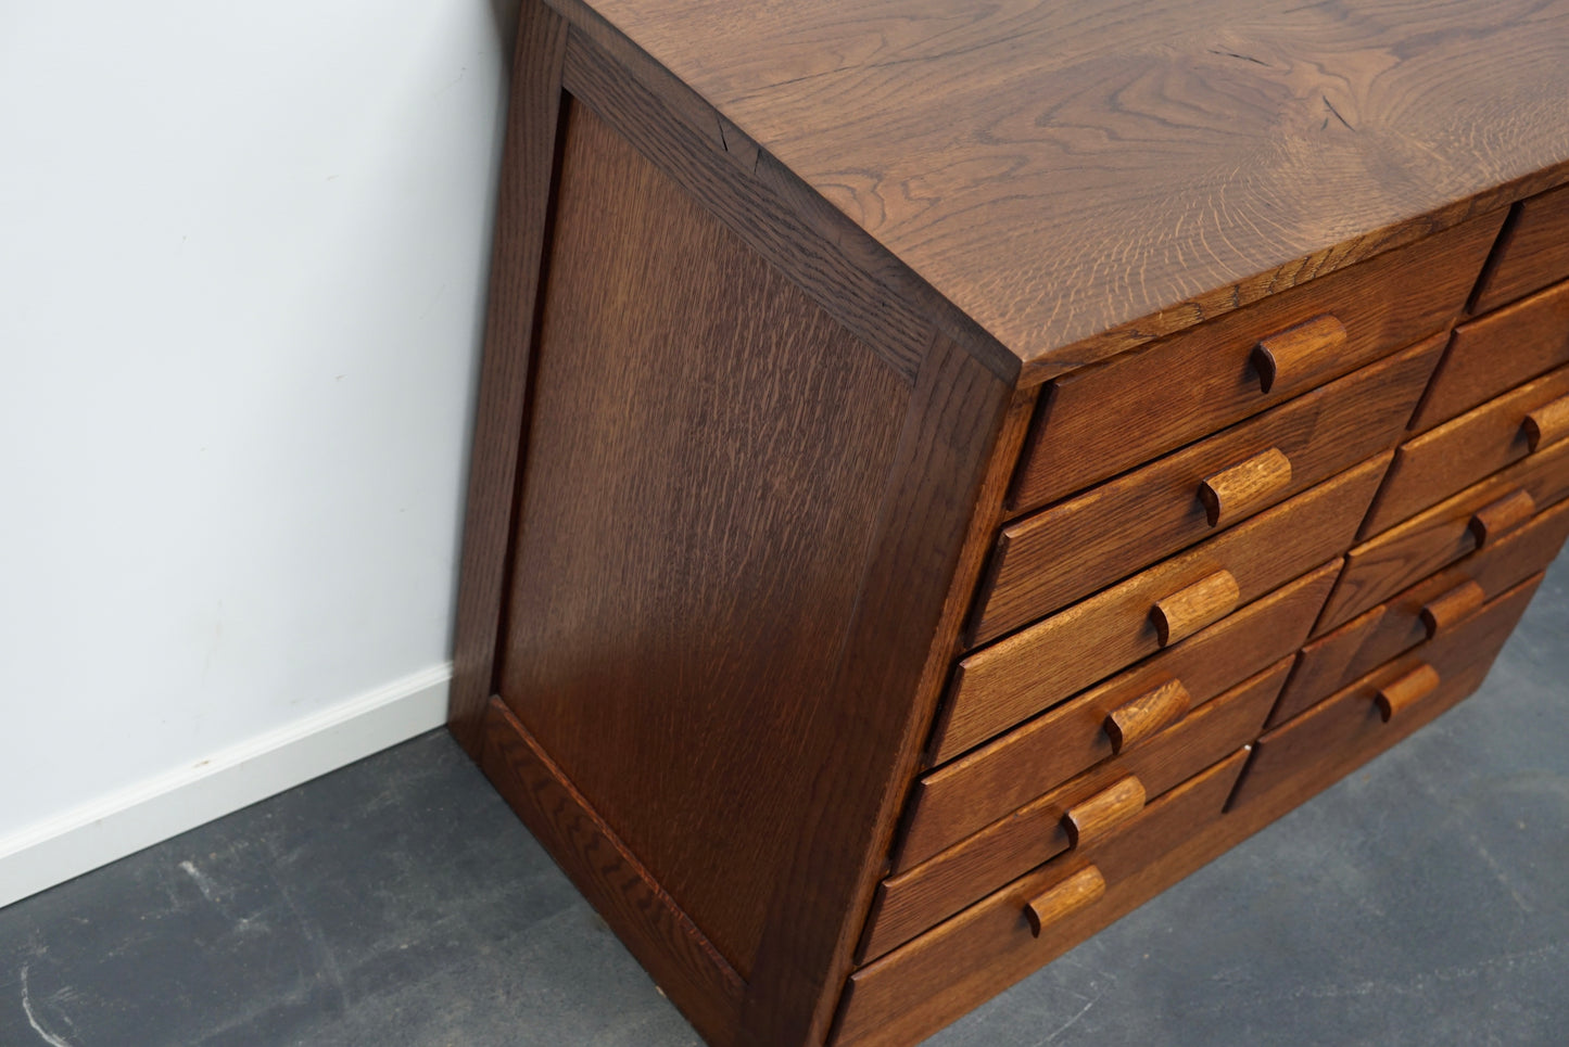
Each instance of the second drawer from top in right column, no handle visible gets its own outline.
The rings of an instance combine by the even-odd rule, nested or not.
[[[1454,329],[1411,428],[1425,433],[1569,364],[1569,281]]]

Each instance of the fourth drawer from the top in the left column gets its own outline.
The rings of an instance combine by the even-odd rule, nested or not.
[[[929,771],[910,795],[907,868],[1101,760],[1152,744],[1203,702],[1293,654],[1340,574],[1331,561],[1210,629],[1119,672],[973,752]],[[1112,737],[1117,741],[1112,741]],[[949,826],[921,835],[929,821]]]

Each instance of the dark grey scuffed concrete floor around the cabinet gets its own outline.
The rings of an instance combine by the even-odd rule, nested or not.
[[[442,732],[0,909],[0,1047],[697,1042]],[[1476,696],[930,1044],[1569,1044],[1569,558]]]

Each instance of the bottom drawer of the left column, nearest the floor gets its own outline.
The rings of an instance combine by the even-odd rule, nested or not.
[[[850,975],[835,1047],[912,1044],[1131,908],[1134,873],[1222,817],[1236,752],[1086,854],[1045,865]],[[1094,868],[1094,873],[1089,870]],[[1097,897],[1098,878],[1103,897]]]

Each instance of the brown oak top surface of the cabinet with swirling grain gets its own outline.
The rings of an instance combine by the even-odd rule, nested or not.
[[[1569,177],[1569,0],[588,5],[1026,370]]]

